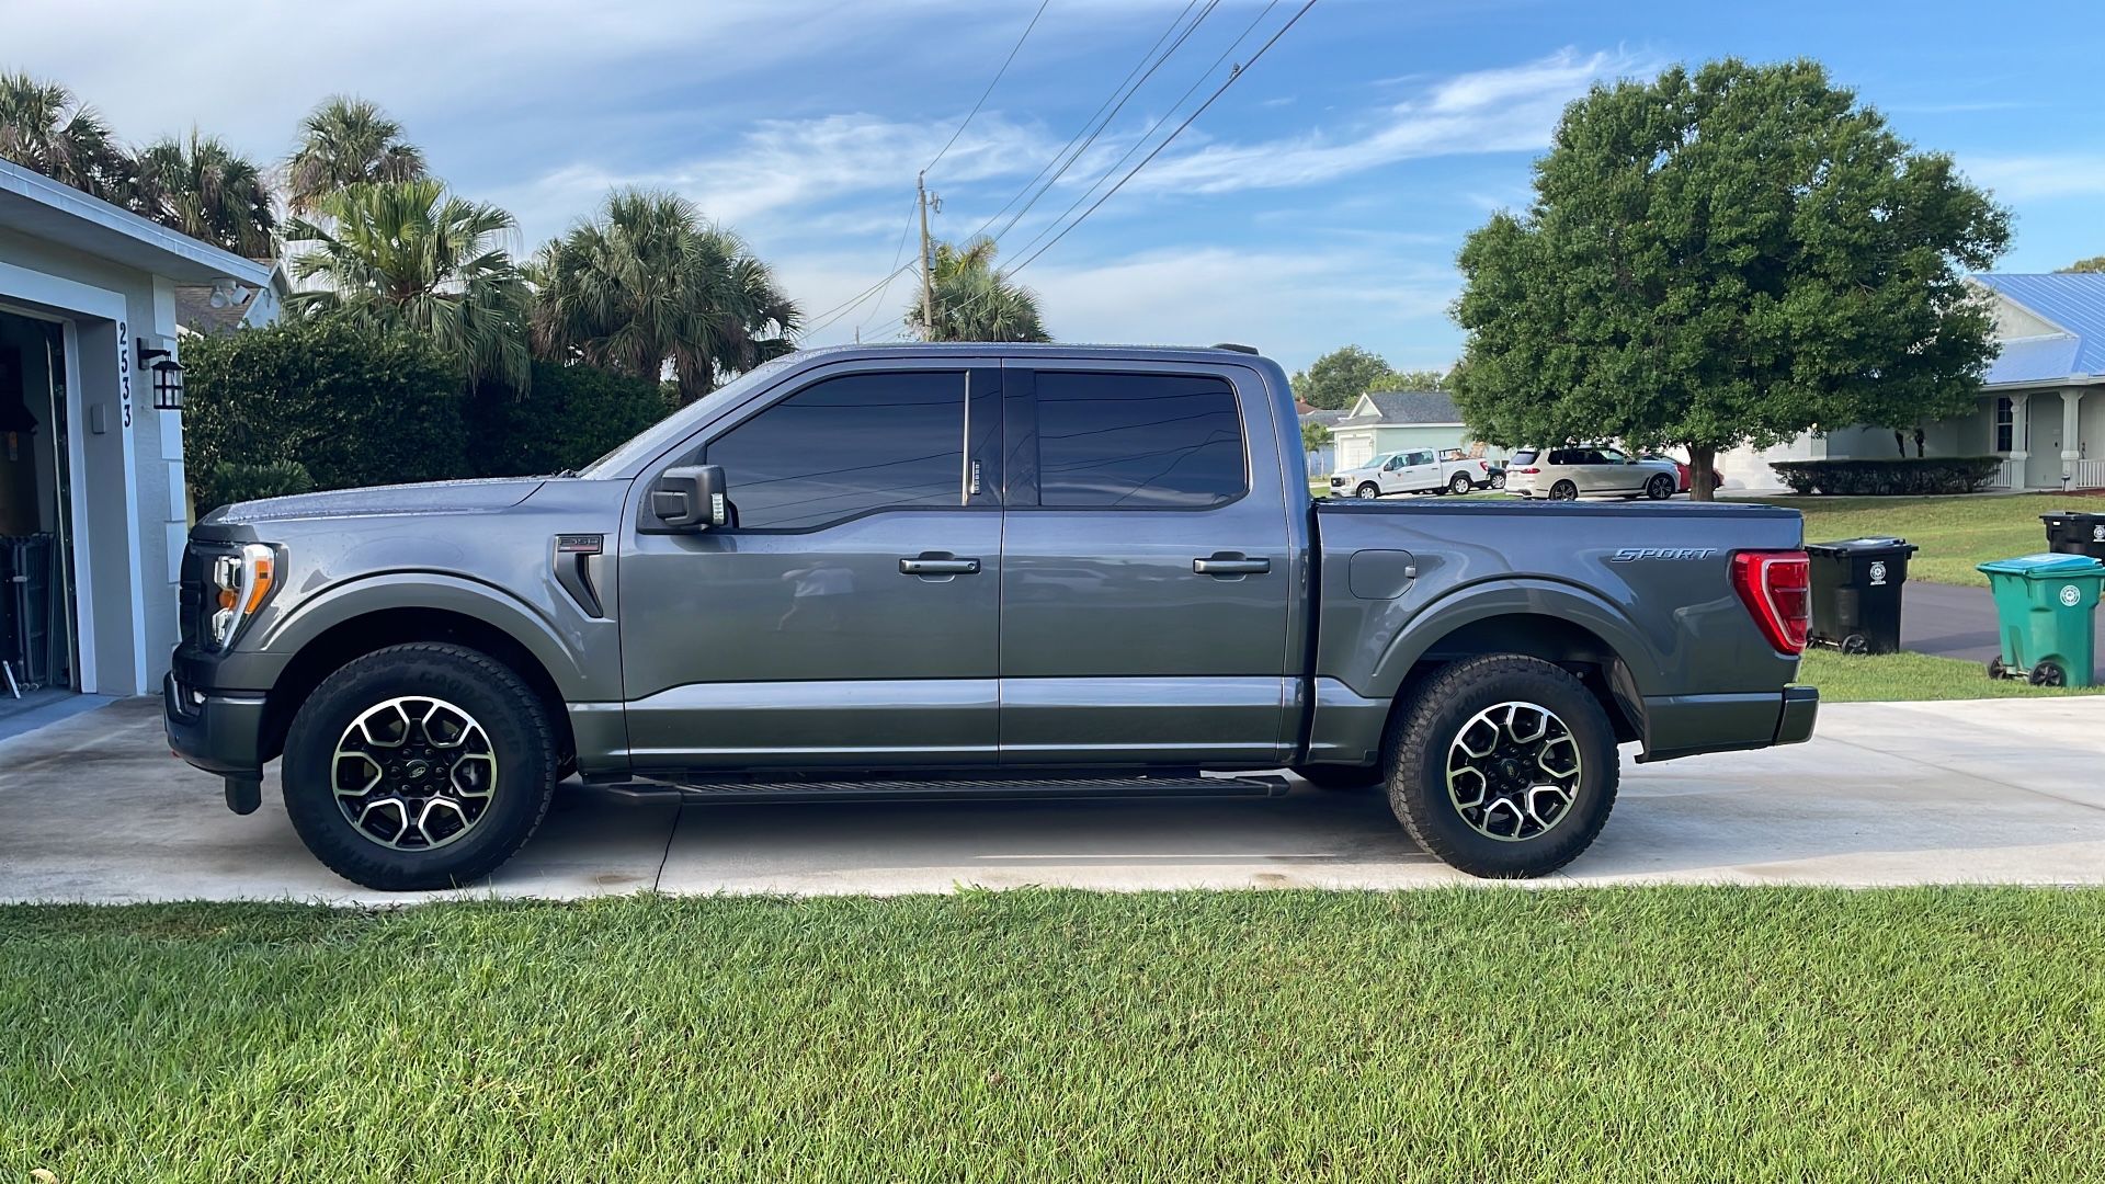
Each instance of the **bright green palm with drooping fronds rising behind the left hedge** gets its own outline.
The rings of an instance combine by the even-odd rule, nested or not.
[[[518,228],[509,213],[448,196],[432,179],[352,185],[316,209],[330,228],[295,217],[286,240],[314,242],[293,259],[293,276],[322,289],[293,293],[288,305],[423,333],[469,381],[526,390],[530,291],[505,249]]]

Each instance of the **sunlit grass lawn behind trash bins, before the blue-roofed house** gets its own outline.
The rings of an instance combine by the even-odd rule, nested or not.
[[[2014,493],[2010,497],[1764,497],[1806,514],[1806,541],[1899,535],[1922,550],[1907,565],[1909,579],[1987,588],[1974,565],[2046,550],[2048,510],[2105,512],[2097,497]]]

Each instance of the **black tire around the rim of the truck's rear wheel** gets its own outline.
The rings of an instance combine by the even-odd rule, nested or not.
[[[1570,729],[1581,767],[1577,792],[1553,826],[1532,838],[1501,841],[1478,832],[1446,786],[1448,748],[1478,712],[1505,702],[1539,704]],[[1615,727],[1585,683],[1539,657],[1492,653],[1436,674],[1389,725],[1381,767],[1389,809],[1427,853],[1484,879],[1547,876],[1577,860],[1615,807],[1621,765]]]

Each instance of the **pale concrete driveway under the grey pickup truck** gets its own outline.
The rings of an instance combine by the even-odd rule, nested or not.
[[[1562,883],[2105,883],[2105,697],[1836,704],[1810,744],[1625,765]],[[909,893],[1469,883],[1377,794],[1095,803],[674,805],[566,786],[465,895]],[[417,900],[335,879],[276,773],[236,817],[168,756],[158,702],[0,742],[0,900]]]

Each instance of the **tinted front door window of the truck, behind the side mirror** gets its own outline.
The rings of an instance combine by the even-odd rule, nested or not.
[[[796,531],[964,504],[964,373],[813,383],[709,442],[739,529]]]

